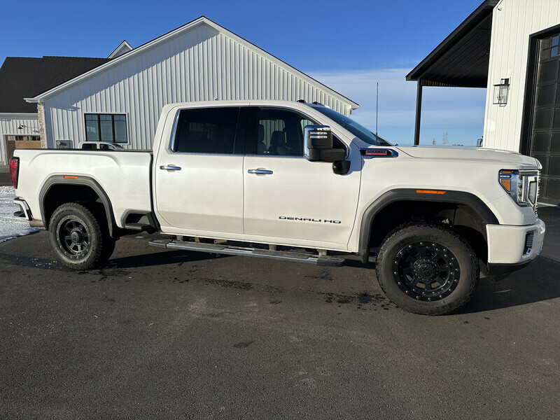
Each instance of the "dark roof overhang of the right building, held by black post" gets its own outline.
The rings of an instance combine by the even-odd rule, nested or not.
[[[486,87],[492,12],[499,0],[486,0],[410,73],[422,86]]]

